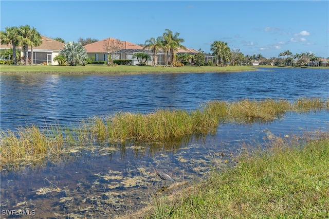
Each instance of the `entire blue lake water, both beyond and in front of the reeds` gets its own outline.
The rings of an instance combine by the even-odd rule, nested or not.
[[[211,100],[329,98],[328,69],[146,75],[1,75],[1,129],[158,108],[196,109]],[[172,142],[133,142],[72,150],[66,156],[1,171],[2,210],[30,210],[33,218],[124,215],[207,178],[209,168],[234,165],[236,155],[276,137],[327,132],[329,112],[286,113],[253,124],[218,124],[213,134]],[[154,173],[175,182],[162,186]]]

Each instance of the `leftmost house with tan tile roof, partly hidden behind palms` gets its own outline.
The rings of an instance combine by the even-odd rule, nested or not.
[[[33,47],[33,64],[48,63],[51,65],[58,65],[57,61],[53,61],[53,58],[58,56],[59,50],[63,49],[64,43],[57,40],[47,38],[41,35],[42,44],[40,46]],[[0,44],[0,49],[12,49],[12,45]],[[21,50],[21,57],[23,56],[23,48],[16,46],[16,49]],[[31,58],[31,47],[28,49],[28,57]]]

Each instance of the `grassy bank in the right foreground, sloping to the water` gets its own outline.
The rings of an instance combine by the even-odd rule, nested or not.
[[[328,218],[329,133],[277,138],[233,168],[117,218]]]

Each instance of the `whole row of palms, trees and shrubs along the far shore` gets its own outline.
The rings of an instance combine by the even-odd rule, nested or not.
[[[29,25],[20,26],[20,27],[6,27],[5,31],[0,31],[1,43],[12,45],[11,50],[4,50],[2,56],[10,57],[10,60],[13,60],[14,65],[17,64],[16,47],[21,46],[23,48],[24,56],[21,58],[21,62],[24,65],[28,65],[29,62],[33,63],[33,47],[40,46],[42,44],[41,34],[36,31],[34,27]],[[65,43],[62,38],[54,38],[54,40]],[[97,39],[92,38],[79,38],[77,42],[67,42],[63,49],[60,50],[59,56],[54,58],[54,61],[58,61],[60,65],[67,63],[69,65],[87,63],[87,53],[83,48],[84,45],[98,42]],[[230,65],[252,65],[255,61],[258,61],[260,65],[305,65],[308,62],[311,62],[312,65],[320,66],[322,63],[320,58],[315,56],[314,53],[293,53],[289,50],[280,52],[278,58],[272,57],[267,59],[262,56],[262,54],[252,54],[245,56],[240,49],[230,49],[228,44],[223,41],[214,41],[211,44],[210,51],[213,59],[209,59],[208,63],[205,63],[206,53],[199,48],[197,54],[181,53],[176,54],[178,49],[187,49],[182,43],[185,40],[179,37],[178,32],[173,32],[170,29],[165,29],[165,32],[157,38],[150,38],[145,40],[144,44],[140,44],[143,49],[148,49],[153,54],[152,65],[155,66],[155,57],[159,50],[162,50],[166,54],[166,67],[170,64],[171,67],[181,66],[184,64],[195,64],[195,65],[216,65],[216,66],[225,66]],[[117,43],[120,43],[118,40]],[[31,60],[28,60],[28,48],[31,48]],[[113,47],[113,48],[112,48]],[[105,47],[104,47],[105,48]],[[115,56],[115,53],[120,49],[120,46],[111,46],[105,48],[105,51],[109,54],[108,56],[108,65],[113,65],[112,57]],[[72,52],[75,51],[75,52]],[[146,52],[139,52],[134,54],[134,58],[137,58],[138,61],[143,64],[147,60],[150,60],[151,57]]]

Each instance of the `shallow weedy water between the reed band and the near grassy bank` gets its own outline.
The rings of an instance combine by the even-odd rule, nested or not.
[[[270,123],[220,124],[214,135],[179,142],[100,145],[68,152],[38,168],[1,172],[2,209],[34,210],[35,217],[109,218],[144,207],[207,177],[210,167],[234,165],[236,155],[281,136],[329,131],[329,113],[289,113]],[[175,181],[163,185],[155,166]]]

